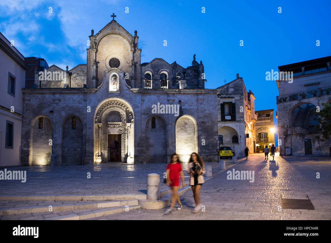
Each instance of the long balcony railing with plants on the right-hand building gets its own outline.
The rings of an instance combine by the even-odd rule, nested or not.
[[[322,95],[329,95],[331,94],[331,86],[317,88],[309,91],[301,91],[297,93],[287,94],[287,95],[280,95],[279,99],[277,99],[277,104],[286,101],[297,101],[306,98],[322,96]]]

